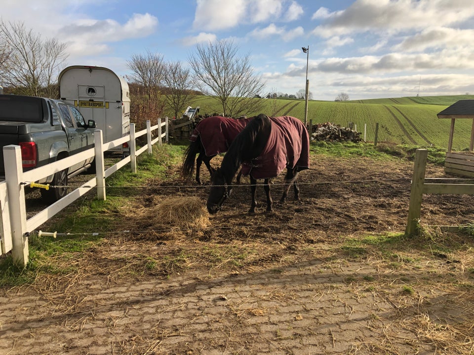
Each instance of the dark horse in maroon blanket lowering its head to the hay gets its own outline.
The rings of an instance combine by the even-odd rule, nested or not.
[[[252,203],[249,213],[255,213],[257,179],[264,179],[267,194],[267,211],[272,211],[269,181],[284,168],[285,188],[280,203],[288,196],[293,184],[295,199],[299,200],[297,175],[309,168],[310,140],[308,130],[297,118],[290,116],[268,117],[260,114],[240,132],[230,145],[221,167],[212,176],[207,199],[207,210],[216,213],[232,192],[232,179],[242,165],[243,175],[249,175]]]

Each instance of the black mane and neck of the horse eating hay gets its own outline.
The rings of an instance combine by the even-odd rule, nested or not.
[[[260,155],[270,136],[272,123],[267,115],[261,113],[250,120],[231,143],[222,159],[221,171],[226,179],[232,179],[244,161]]]

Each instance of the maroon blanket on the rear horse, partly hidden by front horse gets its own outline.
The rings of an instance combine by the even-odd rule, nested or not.
[[[197,124],[189,140],[196,142],[200,136],[206,156],[224,153],[248,122],[250,118],[206,117]]]

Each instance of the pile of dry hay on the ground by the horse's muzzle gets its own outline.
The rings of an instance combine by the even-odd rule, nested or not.
[[[141,210],[137,223],[154,230],[188,230],[206,228],[209,214],[197,197],[154,198],[151,207]]]

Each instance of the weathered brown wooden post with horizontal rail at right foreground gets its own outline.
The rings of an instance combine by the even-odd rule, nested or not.
[[[405,235],[407,236],[415,235],[417,232],[423,194],[474,195],[474,184],[468,179],[425,178],[427,160],[428,150],[417,149],[415,152],[413,179],[411,182],[408,222],[405,229]]]

